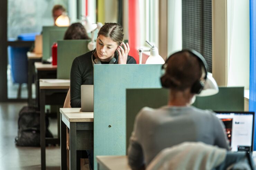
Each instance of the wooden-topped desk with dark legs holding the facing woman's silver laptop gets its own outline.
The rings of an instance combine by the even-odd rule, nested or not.
[[[93,112],[80,112],[80,109],[60,108],[62,170],[67,169],[66,127],[70,130],[70,170],[80,169],[76,167],[76,150],[93,149]]]

